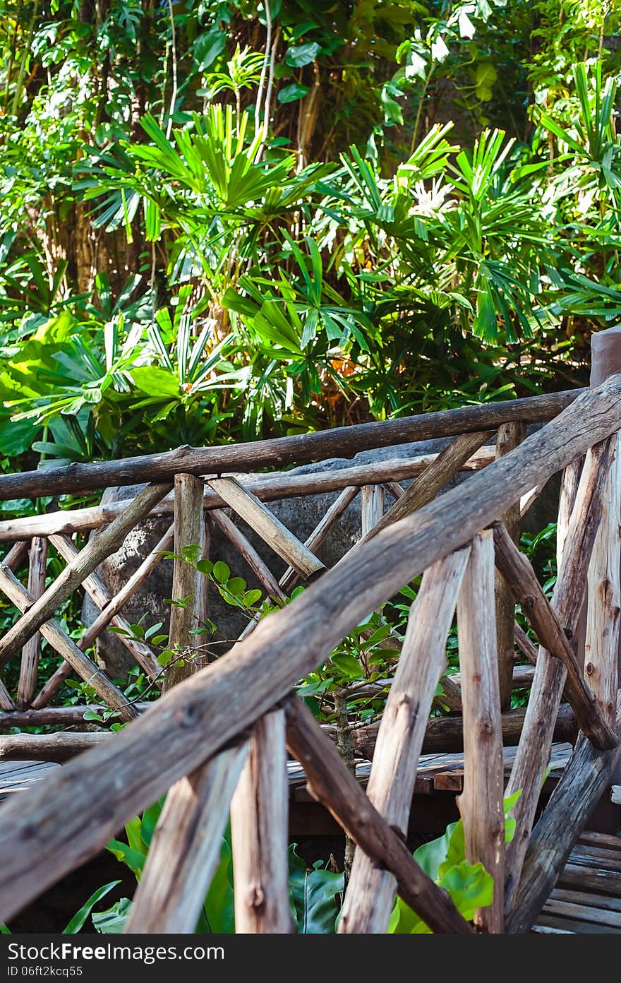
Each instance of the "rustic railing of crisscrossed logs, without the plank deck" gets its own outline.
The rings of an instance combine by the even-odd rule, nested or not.
[[[291,924],[283,895],[284,857],[281,855],[286,812],[283,812],[282,794],[270,794],[266,781],[269,772],[264,770],[266,756],[281,763],[284,760],[286,720],[288,747],[303,764],[311,793],[323,802],[358,844],[341,931],[385,931],[397,892],[434,931],[471,932],[472,926],[464,921],[450,897],[423,874],[394,829],[397,827],[402,836],[407,831],[418,757],[425,740],[430,739],[433,725],[436,724],[435,730],[439,733],[441,727],[438,725],[445,724],[444,721],[427,723],[427,717],[435,686],[444,669],[444,641],[468,562],[471,571],[468,584],[462,584],[457,604],[463,660],[460,680],[463,722],[447,719],[449,726],[445,727],[444,738],[440,733],[435,739],[445,739],[448,743],[463,741],[465,745],[461,807],[467,856],[471,862],[483,862],[495,876],[493,907],[481,909],[476,924],[483,931],[502,931],[505,913],[502,870],[506,864],[509,873],[507,927],[515,930],[512,926],[518,926],[517,930],[525,930],[524,926],[533,915],[533,906],[528,918],[517,920],[511,906],[515,896],[523,896],[520,875],[524,870],[523,878],[527,877],[531,883],[532,871],[538,869],[533,856],[535,844],[542,836],[537,831],[546,815],[548,822],[559,821],[559,808],[552,802],[531,839],[533,803],[536,805],[539,779],[546,765],[554,727],[578,725],[586,735],[580,747],[583,748],[586,741],[588,752],[580,751],[580,767],[574,768],[570,764],[563,780],[565,784],[570,783],[571,790],[571,777],[575,773],[576,781],[581,782],[580,787],[588,797],[588,802],[581,805],[582,811],[574,809],[572,815],[580,813],[582,817],[593,796],[601,790],[601,781],[585,778],[585,770],[595,769],[600,774],[603,768],[600,763],[605,762],[605,767],[609,768],[619,754],[617,726],[609,711],[611,664],[604,658],[601,643],[601,638],[610,630],[610,620],[614,619],[614,606],[608,604],[597,608],[590,634],[593,648],[591,674],[596,679],[593,695],[576,660],[571,636],[575,633],[582,607],[593,544],[598,544],[594,548],[594,556],[598,558],[593,560],[596,567],[593,583],[599,582],[596,570],[604,559],[608,566],[615,562],[616,553],[612,558],[607,554],[604,556],[605,540],[597,538],[597,531],[602,511],[611,516],[617,507],[609,503],[611,497],[618,494],[618,479],[612,476],[617,474],[614,462],[618,449],[616,434],[621,428],[620,397],[621,376],[611,376],[597,388],[580,394],[560,393],[510,404],[468,407],[448,414],[391,421],[386,425],[310,434],[312,439],[305,435],[237,448],[181,448],[169,454],[126,462],[60,468],[46,472],[45,477],[39,473],[0,476],[0,498],[42,494],[42,482],[46,483],[46,494],[101,488],[106,484],[129,485],[143,480],[151,483],[136,499],[122,502],[112,510],[110,506],[99,506],[78,510],[81,514],[77,518],[72,518],[71,512],[50,513],[36,517],[35,523],[11,520],[8,524],[0,524],[0,539],[24,537],[25,540],[34,536],[66,537],[74,528],[85,531],[107,527],[80,552],[67,539],[52,540],[61,552],[64,550],[68,566],[38,599],[28,594],[13,572],[24,559],[24,548],[16,545],[10,550],[4,563],[0,564],[0,590],[5,591],[23,613],[0,640],[0,659],[11,659],[40,631],[65,660],[57,670],[59,676],[70,671],[65,665],[73,667],[83,678],[91,672],[88,682],[104,704],[117,708],[125,719],[132,719],[130,726],[118,734],[103,738],[100,734],[92,735],[95,739],[90,742],[88,735],[84,735],[80,750],[86,749],[76,758],[72,758],[72,741],[59,735],[63,739],[56,741],[57,754],[64,756],[63,760],[68,763],[28,793],[3,804],[0,920],[10,919],[31,898],[100,849],[132,816],[173,787],[155,831],[152,855],[128,928],[148,932],[193,930],[199,898],[215,862],[213,842],[220,836],[233,798],[233,812],[237,817],[234,854],[238,857],[242,886],[240,897],[236,898],[240,927],[248,931],[289,931]],[[493,456],[494,448],[480,447],[483,437],[478,434],[489,428],[516,420],[527,423],[545,419],[552,419],[552,422],[493,462],[490,452]],[[458,434],[469,435],[462,438]],[[316,480],[316,475],[288,479],[283,473],[277,477],[255,477],[248,483],[229,477],[212,477],[221,476],[224,470],[239,473],[251,467],[300,462],[343,450],[351,455],[369,446],[386,446],[399,440],[437,435],[457,436],[451,444],[454,449],[431,459],[427,457],[423,464],[421,459],[402,460],[398,472],[383,465],[369,466],[366,481],[362,474],[353,476],[358,468],[345,468],[332,475],[327,483],[323,482],[323,487],[331,482],[330,490],[341,492],[337,499],[339,505],[332,509],[330,521],[322,520],[306,544],[276,523],[261,502],[281,497],[283,489],[293,494],[303,493],[300,492],[303,483],[297,481],[299,478],[306,482],[307,492],[304,493],[322,491],[322,482]],[[463,453],[462,447],[469,454]],[[516,503],[519,504],[521,497],[541,488],[551,475],[585,454],[587,463],[569,522],[564,560],[557,588],[548,602],[528,561],[498,523]],[[467,483],[445,491],[446,481],[456,470],[469,466],[472,474]],[[188,678],[178,681],[177,677],[174,680],[177,684],[172,688],[165,687],[166,692],[143,711],[141,706],[128,706],[124,695],[69,638],[53,619],[53,614],[78,584],[96,576],[94,570],[101,559],[118,549],[123,537],[139,519],[167,514],[170,510],[168,502],[171,508],[174,507],[170,499],[163,497],[167,492],[163,483],[174,480],[177,486],[176,476],[179,475],[187,475],[189,480],[192,476],[195,478],[192,479],[192,521],[188,512],[185,520],[180,513],[179,521],[175,513],[174,547],[177,553],[192,545],[190,540],[197,542],[203,510],[228,505],[251,521],[261,538],[289,563],[281,585],[288,586],[296,575],[305,578],[307,583],[312,580],[312,583],[294,602],[257,623],[252,634],[238,642],[226,656]],[[388,484],[391,493],[401,495],[402,490],[395,488],[394,483],[416,475],[424,476],[419,493],[415,482],[411,486],[414,491],[405,491],[385,515],[383,509],[373,503],[372,495],[367,495],[365,542],[351,549],[332,569],[324,570],[313,549],[325,536],[326,527],[329,528],[353,500],[355,489]],[[206,476],[209,488],[205,492],[197,476]],[[310,488],[313,491],[309,491]],[[432,494],[442,493],[427,500],[424,489],[430,489]],[[135,521],[130,522],[128,516]],[[226,522],[223,526],[226,529]],[[612,520],[607,519],[604,528],[609,532],[612,526]],[[493,531],[485,532],[490,527]],[[608,532],[602,535],[607,536]],[[542,646],[546,647],[541,648],[536,657],[529,709],[518,715],[518,729],[514,731],[514,740],[518,735],[520,737],[510,787],[515,787],[519,777],[522,789],[519,801],[524,800],[524,805],[516,816],[517,844],[513,850],[507,850],[506,856],[499,749],[505,733],[509,732],[510,722],[518,718],[501,714],[496,675],[493,542],[500,573],[531,618]],[[175,560],[176,576],[181,574],[180,564],[180,560]],[[141,565],[141,576],[147,576],[152,565],[152,558],[145,560]],[[263,571],[266,580],[269,579],[267,574]],[[424,574],[423,587],[411,610],[401,662],[385,714],[376,731],[375,754],[366,793],[339,758],[328,730],[314,722],[304,705],[292,697],[292,691],[305,674],[329,657],[368,611],[384,604],[404,584],[421,574]],[[106,607],[111,606],[114,610],[112,617],[122,617],[123,605],[140,582],[141,577],[135,575],[132,589],[123,589],[120,599],[104,597],[100,585],[91,582],[90,589],[99,592],[102,607],[95,621],[98,630],[103,630],[109,623],[104,616]],[[192,616],[181,618],[175,628],[180,645],[191,645],[195,614],[193,609]],[[429,648],[425,642],[425,659],[422,661],[423,650],[418,646],[422,645],[425,632],[433,640],[435,655],[428,660]],[[599,649],[595,652],[597,646]],[[135,655],[138,658],[138,653]],[[31,649],[27,650],[27,657],[28,665],[31,665]],[[547,679],[548,676],[553,682],[549,699],[537,683],[539,678]],[[28,686],[31,694],[31,683]],[[560,706],[563,689],[571,709]],[[616,697],[616,681],[614,695]],[[0,699],[0,704],[4,710],[0,715],[0,728],[10,720],[16,723],[34,719],[61,721],[64,709],[73,712],[73,708],[52,707],[18,710],[12,700],[11,705],[5,706]],[[543,713],[547,715],[544,740],[529,753],[528,748],[533,745],[531,720],[540,721]],[[33,716],[37,714],[38,717]],[[68,713],[64,719],[69,718]],[[460,727],[463,728],[461,731]],[[28,736],[32,735],[25,735]],[[81,737],[78,734],[71,736],[79,740]],[[18,747],[18,744],[14,741],[14,746]],[[2,738],[0,754],[1,748]],[[53,753],[53,748],[49,753]],[[387,778],[387,756],[391,762],[400,762],[395,787]],[[528,767],[525,767],[525,761]],[[236,785],[238,790],[234,792]],[[239,805],[244,795],[247,801],[254,803],[254,811],[236,807],[236,796],[240,796]],[[561,799],[564,801],[562,795]],[[70,809],[67,803],[71,803]],[[170,829],[175,825],[171,823],[171,816],[176,819],[177,815],[184,820],[179,841],[170,838]],[[563,840],[559,855],[565,846]],[[527,861],[523,867],[525,856]],[[197,864],[202,865],[203,870],[198,884],[193,882]],[[549,872],[546,878],[543,879],[545,885],[550,879]],[[165,897],[162,884],[167,886]],[[243,888],[245,884],[246,889]],[[256,895],[254,888],[258,892]],[[537,898],[541,892],[541,885],[537,883]],[[155,903],[154,898],[160,896],[161,904],[159,900]]]

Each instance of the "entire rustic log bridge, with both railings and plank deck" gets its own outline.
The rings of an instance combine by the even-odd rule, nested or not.
[[[25,761],[66,762],[42,777],[32,765],[37,780],[19,794],[7,791],[0,805],[0,921],[10,920],[168,791],[126,931],[194,930],[230,814],[237,931],[289,932],[290,786],[304,781],[357,844],[342,933],[385,932],[396,893],[434,932],[617,930],[620,844],[583,832],[609,791],[621,753],[621,375],[609,375],[618,368],[615,358],[621,359],[614,329],[593,341],[606,351],[612,345],[616,356],[603,359],[603,371],[596,370],[601,377],[595,375],[590,389],[1,476],[2,499],[148,484],[129,502],[0,522],[0,541],[12,544],[0,564],[0,590],[21,613],[0,639],[0,665],[21,654],[17,694],[0,684],[0,726],[80,724],[85,708],[53,706],[71,675],[87,681],[101,705],[130,724],[112,734],[18,733],[0,740],[0,781],[14,767],[26,783]],[[532,423],[544,426],[525,438]],[[494,432],[495,448],[488,445]],[[302,476],[256,473],[439,436],[451,442],[424,458]],[[472,472],[467,480],[443,491],[464,470]],[[559,471],[558,579],[550,601],[516,544],[520,514]],[[399,484],[411,478],[406,489]],[[265,505],[319,491],[338,493],[305,543]],[[362,538],[326,570],[315,551],[359,491]],[[388,494],[394,503],[385,510]],[[225,509],[285,560],[280,580]],[[163,540],[111,597],[96,568],[142,519],[166,514],[172,523]],[[152,704],[129,702],[88,652],[108,625],[127,628],[123,607],[162,550],[174,545],[181,554],[198,544],[207,555],[205,530],[212,522],[271,597],[284,602],[297,579],[309,587],[253,624],[227,655],[198,667],[192,632],[204,611],[203,578],[176,559],[173,598],[193,599],[171,608],[169,644],[180,658],[162,676],[147,642],[131,632],[120,636],[163,690]],[[90,530],[98,532],[78,549],[72,534]],[[66,566],[45,587],[47,544]],[[28,548],[27,587],[14,571]],[[369,611],[420,575],[381,722],[352,733],[363,760],[348,767],[331,729],[316,723],[295,687]],[[81,586],[100,614],[76,643],[55,614]],[[515,626],[516,602],[538,651]],[[577,639],[585,602],[583,668]],[[456,608],[457,680],[443,676]],[[38,633],[61,662],[37,692]],[[514,666],[514,639],[533,671]],[[459,716],[429,720],[440,678],[444,699]],[[508,709],[512,687],[525,683],[531,686],[526,711]],[[444,760],[434,768],[429,755]],[[457,767],[448,767],[451,756]],[[537,815],[550,759],[556,787]],[[22,764],[9,767],[11,761]],[[404,843],[417,782],[434,785],[440,775],[445,788],[460,792],[467,859],[482,862],[494,880],[493,903],[476,913],[474,923],[464,920]],[[505,846],[503,797],[518,790],[516,833]]]

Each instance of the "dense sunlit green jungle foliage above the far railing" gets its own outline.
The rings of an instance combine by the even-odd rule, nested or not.
[[[5,470],[586,380],[617,5],[0,9]]]

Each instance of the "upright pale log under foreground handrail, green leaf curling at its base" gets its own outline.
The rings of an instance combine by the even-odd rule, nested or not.
[[[500,934],[504,920],[504,765],[494,627],[494,549],[488,530],[471,544],[457,602],[457,633],[464,707],[464,791],[458,805],[466,859],[471,864],[482,863],[494,881],[492,903],[475,912],[475,924],[481,931]]]

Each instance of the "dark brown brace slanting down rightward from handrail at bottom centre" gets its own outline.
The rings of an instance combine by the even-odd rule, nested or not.
[[[450,897],[423,872],[403,840],[369,802],[352,773],[300,700],[286,708],[287,746],[303,765],[310,794],[332,813],[377,864],[389,870],[404,901],[434,932],[472,932]]]

